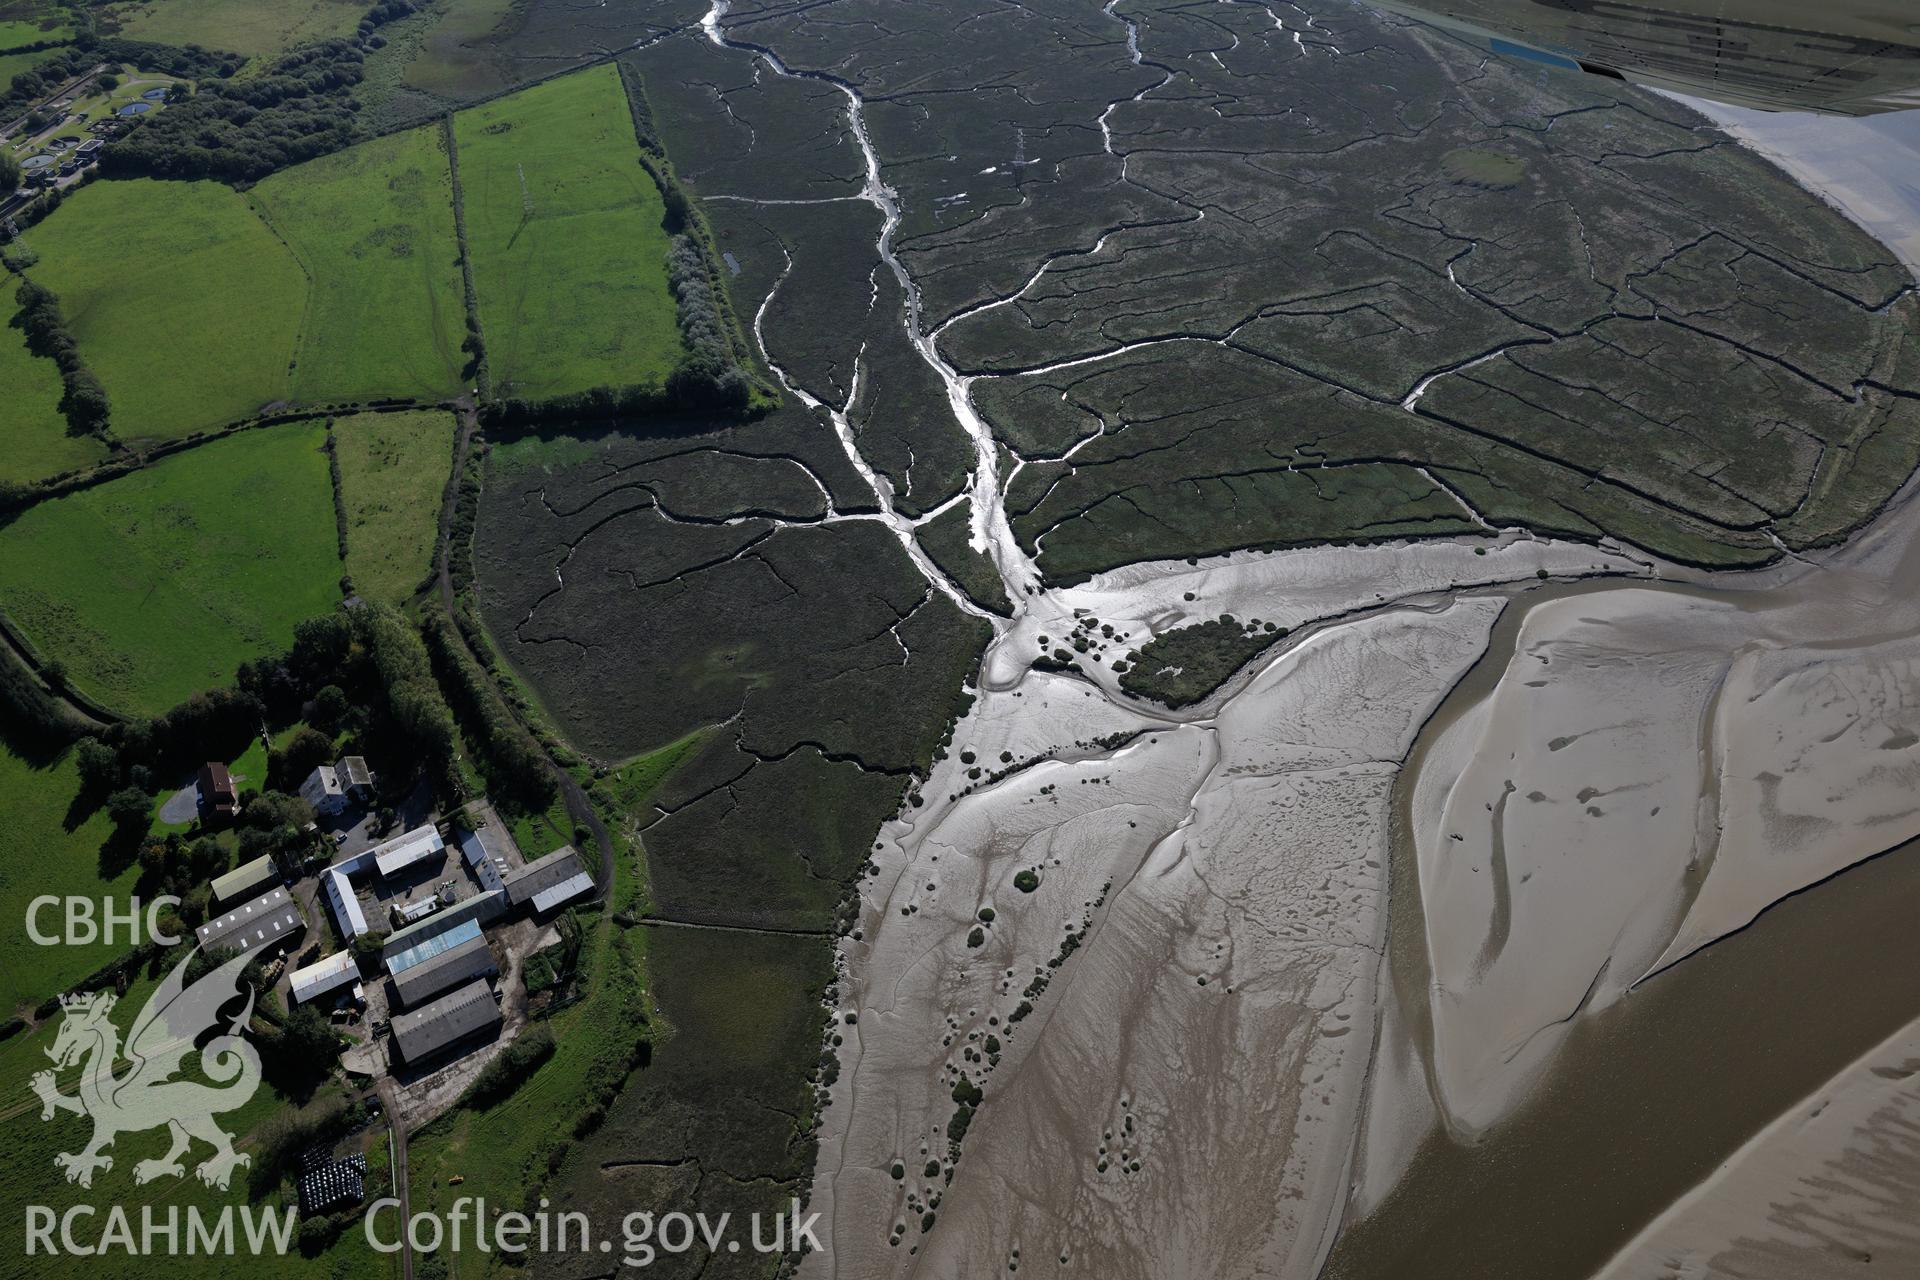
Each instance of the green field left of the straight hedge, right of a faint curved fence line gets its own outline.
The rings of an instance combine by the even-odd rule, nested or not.
[[[286,169],[252,200],[313,282],[296,399],[459,393],[467,303],[438,127]]]

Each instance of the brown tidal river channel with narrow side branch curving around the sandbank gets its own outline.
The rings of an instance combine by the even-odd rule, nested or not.
[[[1515,601],[1421,741],[1498,681],[1528,604],[1592,589],[1605,587]],[[1402,796],[1390,996],[1430,1061],[1405,806]],[[1342,1228],[1323,1280],[1586,1280],[1747,1138],[1920,1017],[1916,973],[1920,841],[1776,902],[1582,1017],[1511,1117],[1471,1146],[1440,1126],[1421,1140],[1386,1199]]]

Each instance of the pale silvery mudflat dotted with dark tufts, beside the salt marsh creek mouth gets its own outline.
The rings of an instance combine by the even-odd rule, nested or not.
[[[1135,566],[1029,604],[954,737],[981,762],[1012,752],[1014,771],[958,794],[966,760],[937,766],[862,885],[841,984],[856,1023],[841,1025],[812,1199],[829,1224],[818,1274],[993,1274],[1016,1249],[1069,1274],[1317,1270],[1365,1096],[1392,781],[1505,608],[1498,587],[1450,589],[1645,572],[1546,539],[1480,549]],[[1106,676],[1027,670],[1075,608],[1133,637],[1225,608],[1331,622],[1173,716]],[[1014,885],[1029,867],[1031,894]],[[995,917],[972,946],[983,906]],[[1050,983],[1012,1023],[1037,973]],[[925,1165],[947,1153],[958,1073],[987,1102],[948,1184]]]

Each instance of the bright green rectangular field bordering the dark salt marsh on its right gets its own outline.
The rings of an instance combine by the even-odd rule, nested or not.
[[[680,361],[660,190],[612,65],[453,117],[467,246],[497,390],[545,397]]]

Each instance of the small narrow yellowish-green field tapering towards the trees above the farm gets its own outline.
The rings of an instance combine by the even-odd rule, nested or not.
[[[363,413],[334,422],[353,591],[405,604],[432,568],[453,415]]]

